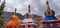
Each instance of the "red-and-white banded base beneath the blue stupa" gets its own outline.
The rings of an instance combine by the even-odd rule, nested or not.
[[[45,20],[44,22],[42,22],[43,24],[43,28],[60,28],[60,20]]]

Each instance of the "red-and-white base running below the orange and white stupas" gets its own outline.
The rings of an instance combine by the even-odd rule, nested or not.
[[[4,28],[29,28],[29,27],[35,27],[37,28],[37,25],[32,24],[32,22],[28,22],[28,24],[25,24],[23,22],[20,22],[21,24],[19,26],[4,26]]]

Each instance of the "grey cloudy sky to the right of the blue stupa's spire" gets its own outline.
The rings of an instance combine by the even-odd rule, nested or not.
[[[50,0],[51,9],[53,9],[57,14],[60,14],[60,0]]]

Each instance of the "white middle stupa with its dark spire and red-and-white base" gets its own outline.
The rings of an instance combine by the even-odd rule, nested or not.
[[[28,6],[28,12],[25,14],[25,19],[22,21],[22,27],[23,28],[38,28],[38,25],[34,23],[34,20],[32,18],[30,11],[30,5]]]

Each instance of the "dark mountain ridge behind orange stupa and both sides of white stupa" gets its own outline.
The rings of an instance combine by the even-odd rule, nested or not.
[[[9,21],[11,18],[10,16],[13,15],[13,12],[6,12],[4,11],[3,14],[2,14],[2,17],[5,21]],[[23,15],[21,15],[20,13],[16,13],[16,15],[19,17],[20,20],[23,20],[25,17]],[[33,15],[33,18],[41,18],[42,16],[38,16],[38,15],[35,15],[35,14],[32,14]]]

